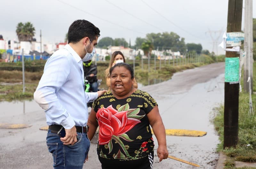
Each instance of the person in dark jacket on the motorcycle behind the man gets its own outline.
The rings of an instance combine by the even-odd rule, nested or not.
[[[98,82],[97,82],[97,65],[92,63],[92,60],[83,62],[84,68],[84,78],[89,81],[92,92],[98,91]]]

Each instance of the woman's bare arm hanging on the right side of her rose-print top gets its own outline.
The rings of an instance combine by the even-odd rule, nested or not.
[[[158,142],[157,148],[157,156],[159,161],[166,159],[168,157],[168,150],[166,147],[166,136],[165,136],[165,128],[162,121],[162,118],[159,114],[158,107],[155,106],[148,114],[149,124],[153,129],[153,132],[156,136]]]

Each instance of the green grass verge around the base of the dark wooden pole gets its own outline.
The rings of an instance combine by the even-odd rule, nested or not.
[[[253,77],[256,77],[256,63],[253,64]],[[242,73],[243,75],[243,73]],[[241,77],[241,85],[243,86],[243,77]],[[255,81],[255,80],[254,80]],[[253,83],[253,88],[256,88],[256,82]],[[256,96],[252,94],[252,107],[255,111],[256,109]],[[224,105],[216,108],[215,111],[217,115],[213,119],[213,123],[216,131],[220,135],[220,144],[218,145],[217,151],[222,151],[230,160],[227,160],[226,168],[234,168],[235,161],[242,162],[256,162],[256,112],[254,114],[249,114],[249,94],[246,92],[239,93],[239,121],[238,121],[238,144],[237,146],[231,148],[223,149],[223,135],[224,135]],[[249,169],[240,168],[240,169]],[[251,167],[250,169],[256,169],[256,167]]]

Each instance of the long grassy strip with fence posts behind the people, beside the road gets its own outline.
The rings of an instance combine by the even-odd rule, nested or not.
[[[196,61],[195,58],[190,59]],[[199,58],[197,59],[197,61]],[[213,63],[214,60],[210,56],[202,55],[200,62],[188,63],[188,59],[174,60],[156,60],[155,63],[152,59],[150,61],[150,71],[148,72],[148,60],[143,60],[143,69],[141,66],[141,60],[135,61],[135,77],[137,82],[142,85],[154,84],[161,81],[166,81],[172,78],[173,73],[179,72],[185,69],[193,69],[198,66]],[[127,60],[127,63],[133,65],[133,60]],[[186,64],[185,64],[186,63]],[[36,90],[38,82],[43,74],[44,60],[33,60],[25,61],[25,93],[22,93],[22,64],[18,63],[5,63],[0,62],[0,101],[12,101],[12,100],[23,100],[32,99],[33,93]],[[98,67],[98,79],[102,79],[99,88],[108,88],[105,79],[105,70],[108,68],[108,61],[97,62]]]

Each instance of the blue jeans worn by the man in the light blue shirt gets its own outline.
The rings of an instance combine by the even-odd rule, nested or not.
[[[73,145],[63,145],[60,136],[48,130],[46,144],[53,158],[54,169],[82,169],[84,160],[90,148],[86,133],[77,133],[77,142]]]

